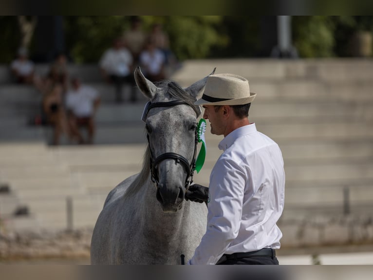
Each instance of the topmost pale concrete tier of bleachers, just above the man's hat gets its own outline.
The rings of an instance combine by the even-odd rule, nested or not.
[[[175,80],[199,80],[216,67],[218,73],[234,73],[250,79],[318,79],[340,82],[345,80],[370,80],[373,71],[371,60],[359,59],[210,59],[186,60],[183,67],[171,76]],[[354,71],[351,71],[354,69]]]

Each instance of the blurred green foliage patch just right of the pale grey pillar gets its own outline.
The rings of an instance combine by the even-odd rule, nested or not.
[[[334,56],[334,24],[328,16],[294,16],[293,43],[302,58]]]

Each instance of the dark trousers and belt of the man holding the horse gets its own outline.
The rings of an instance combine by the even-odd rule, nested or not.
[[[240,256],[238,254],[226,255],[224,254],[216,264],[279,264],[279,260],[276,258],[275,250],[262,249],[271,254],[261,255],[258,251],[257,255],[252,256]],[[260,250],[261,251],[261,250]],[[241,254],[241,253],[240,253]]]

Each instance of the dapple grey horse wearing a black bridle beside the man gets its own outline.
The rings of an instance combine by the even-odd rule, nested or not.
[[[184,196],[201,114],[194,101],[208,76],[182,88],[170,80],[153,83],[135,69],[136,84],[150,100],[143,113],[143,168],[107,196],[93,229],[92,264],[182,264],[193,256],[206,231],[207,209]]]

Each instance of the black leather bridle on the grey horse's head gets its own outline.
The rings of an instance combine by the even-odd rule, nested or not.
[[[176,105],[188,105],[186,101],[183,100],[174,100],[174,101],[168,101],[168,102],[154,102],[154,103],[149,103],[149,105],[146,108],[145,116],[148,115],[148,112],[151,108],[155,107],[173,107]],[[197,126],[195,129],[195,137],[194,137],[194,154],[193,154],[193,159],[192,162],[189,163],[189,161],[183,157],[182,155],[173,153],[173,152],[168,152],[164,153],[160,156],[158,156],[156,159],[153,157],[153,153],[151,152],[150,148],[150,140],[149,140],[149,133],[147,133],[147,139],[149,143],[149,151],[150,151],[150,173],[151,173],[151,181],[156,184],[158,187],[159,185],[159,178],[158,178],[158,173],[157,173],[157,166],[159,163],[163,160],[169,160],[173,159],[176,160],[177,163],[182,163],[186,167],[186,180],[185,180],[185,188],[187,189],[189,185],[193,182],[193,174],[194,174],[194,169],[196,167],[196,155],[197,155],[197,143],[198,143],[198,137],[197,137]],[[190,178],[190,180],[189,180]]]

